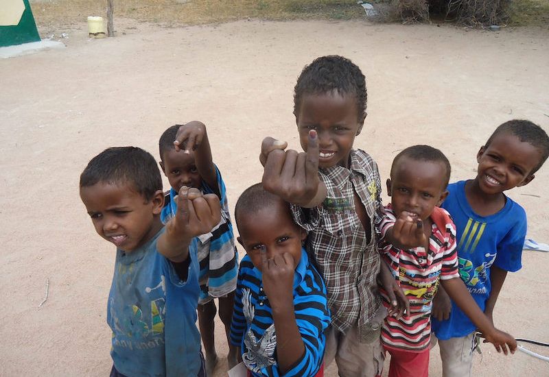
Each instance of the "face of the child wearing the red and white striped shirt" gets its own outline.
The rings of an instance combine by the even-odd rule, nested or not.
[[[410,212],[418,219],[430,217],[448,192],[445,190],[446,168],[442,162],[413,160],[402,156],[387,180],[387,193],[395,215]],[[413,215],[412,215],[413,216]]]

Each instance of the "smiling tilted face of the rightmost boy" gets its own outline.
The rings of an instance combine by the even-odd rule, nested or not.
[[[488,147],[481,147],[475,180],[483,193],[496,194],[524,186],[534,179],[530,172],[541,160],[541,151],[510,134],[496,135]]]

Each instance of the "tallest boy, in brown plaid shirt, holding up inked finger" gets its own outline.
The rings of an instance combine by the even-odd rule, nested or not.
[[[284,151],[287,143],[265,138],[259,157],[264,188],[292,203],[294,221],[308,232],[307,253],[325,280],[332,319],[325,364],[335,358],[341,376],[377,376],[386,315],[377,289],[374,232],[381,182],[373,159],[353,149],[366,117],[366,81],[350,60],[324,56],[305,66],[294,90],[305,153]],[[382,272],[397,306],[395,293],[402,293],[398,287],[393,292],[395,280],[384,263]]]

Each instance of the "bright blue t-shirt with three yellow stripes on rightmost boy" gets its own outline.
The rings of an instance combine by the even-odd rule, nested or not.
[[[506,197],[504,208],[494,215],[477,215],[465,197],[465,183],[449,184],[449,195],[442,204],[454,223],[458,237],[458,263],[461,280],[484,311],[491,292],[490,267],[506,271],[521,267],[522,245],[526,237],[524,208]],[[452,301],[449,319],[432,319],[432,330],[437,338],[446,340],[465,337],[476,330],[469,317]]]

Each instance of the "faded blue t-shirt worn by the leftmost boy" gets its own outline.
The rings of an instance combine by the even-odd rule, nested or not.
[[[201,366],[196,328],[198,261],[196,241],[189,246],[187,280],[156,251],[159,231],[130,253],[117,249],[107,322],[113,330],[110,351],[126,376],[196,376]]]

